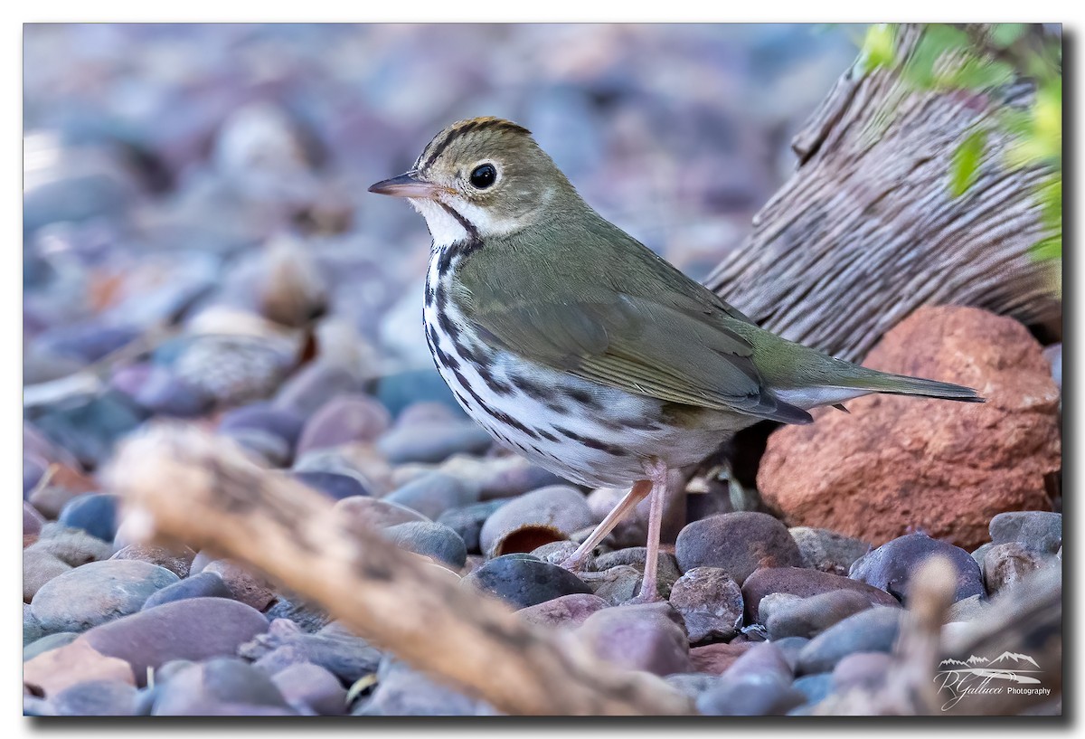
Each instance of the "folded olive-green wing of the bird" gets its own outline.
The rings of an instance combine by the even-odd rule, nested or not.
[[[753,346],[723,311],[689,311],[611,292],[607,300],[535,293],[518,300],[490,283],[487,300],[464,314],[492,344],[526,359],[604,385],[659,398],[750,416],[809,423],[809,413],[765,387]]]

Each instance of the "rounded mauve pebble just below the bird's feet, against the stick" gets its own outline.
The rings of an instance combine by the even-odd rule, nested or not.
[[[608,608],[589,615],[577,638],[599,659],[665,676],[693,672],[681,616],[669,604]]]

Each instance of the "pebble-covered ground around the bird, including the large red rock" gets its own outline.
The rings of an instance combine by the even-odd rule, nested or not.
[[[990,402],[824,411],[769,437],[760,496],[699,471],[672,511],[665,602],[623,604],[642,517],[579,576],[554,564],[615,492],[503,453],[458,410],[421,333],[422,224],[361,194],[449,120],[507,115],[605,215],[703,273],[850,61],[834,33],[29,27],[26,712],[495,712],[235,562],[139,540],[104,470],[162,418],[705,714],[813,713],[884,680],[932,553],[958,574],[947,633],[1027,598],[1061,565],[1059,345],[967,308],[904,321],[871,366]]]

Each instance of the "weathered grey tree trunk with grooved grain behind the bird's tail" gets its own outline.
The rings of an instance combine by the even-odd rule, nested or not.
[[[899,48],[919,31],[902,28]],[[999,104],[1030,98],[1021,84]],[[1007,139],[993,135],[974,184],[949,192],[953,152],[991,107],[854,65],[792,141],[797,171],[706,284],[764,328],[852,360],[921,305],[978,306],[1060,334],[1051,267],[1030,254],[1046,235],[1045,173],[1007,168]]]

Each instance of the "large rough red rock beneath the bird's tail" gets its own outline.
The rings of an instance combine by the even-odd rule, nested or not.
[[[1044,475],[1061,468],[1059,392],[1042,347],[1013,319],[920,308],[885,334],[867,367],[976,388],[984,404],[895,395],[814,411],[768,439],[757,474],[792,526],[875,545],[920,530],[966,549],[1003,511],[1049,510]]]

